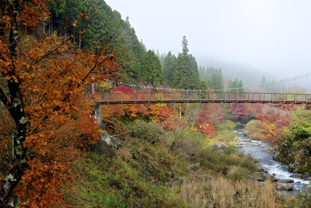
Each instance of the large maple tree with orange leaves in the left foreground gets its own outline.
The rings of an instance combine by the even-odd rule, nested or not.
[[[71,48],[71,39],[81,32],[65,42],[30,35],[23,40],[21,27],[35,29],[47,17],[45,3],[12,0],[0,8],[0,207],[4,208],[17,205],[16,196],[20,207],[51,207],[62,201],[62,187],[78,177],[71,171],[78,157],[74,149],[84,141],[94,143],[98,136],[98,126],[89,116],[94,104],[85,87],[113,78],[117,68],[117,55],[104,55],[105,46],[96,54]]]

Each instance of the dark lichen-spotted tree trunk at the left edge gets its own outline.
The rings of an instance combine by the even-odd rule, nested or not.
[[[12,201],[13,190],[21,180],[23,172],[26,168],[26,151],[27,148],[23,147],[26,138],[28,123],[24,111],[24,105],[21,95],[19,95],[19,83],[15,82],[12,76],[16,75],[14,68],[14,59],[17,55],[18,43],[18,21],[20,16],[20,1],[12,1],[12,15],[11,15],[11,30],[9,36],[10,56],[12,57],[12,70],[8,72],[11,77],[7,80],[8,90],[11,94],[11,102],[7,99],[4,91],[0,88],[0,99],[8,109],[10,115],[15,121],[15,131],[12,135],[12,169],[11,172],[5,177],[4,182],[1,184],[0,189],[0,207],[8,208],[14,206]],[[23,2],[22,2],[23,3]]]

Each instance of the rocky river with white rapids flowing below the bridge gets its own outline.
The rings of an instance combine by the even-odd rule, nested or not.
[[[291,183],[293,185],[293,190],[291,193],[296,193],[297,190],[305,189],[309,187],[309,180],[299,179],[299,178],[291,178],[290,175],[293,173],[288,172],[288,164],[282,162],[276,162],[273,160],[274,153],[267,149],[269,147],[268,143],[263,141],[245,141],[247,138],[243,132],[244,125],[237,125],[237,127],[233,131],[237,131],[235,134],[240,139],[240,142],[245,142],[246,147],[242,147],[240,145],[239,150],[244,151],[244,153],[252,153],[254,158],[258,160],[258,166],[261,166],[267,171],[270,175],[273,173],[276,174],[275,177],[278,179],[292,179],[295,183]],[[254,142],[258,142],[258,146],[252,146],[251,144]],[[300,183],[299,183],[300,182]]]

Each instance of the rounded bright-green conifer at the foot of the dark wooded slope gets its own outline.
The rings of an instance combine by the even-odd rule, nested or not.
[[[142,65],[142,80],[153,86],[162,84],[162,66],[160,60],[155,53],[149,50],[144,59]]]

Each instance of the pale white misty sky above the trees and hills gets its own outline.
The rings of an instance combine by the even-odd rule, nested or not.
[[[249,64],[278,80],[311,72],[311,1],[107,0],[147,49]],[[201,63],[200,63],[201,62]]]

